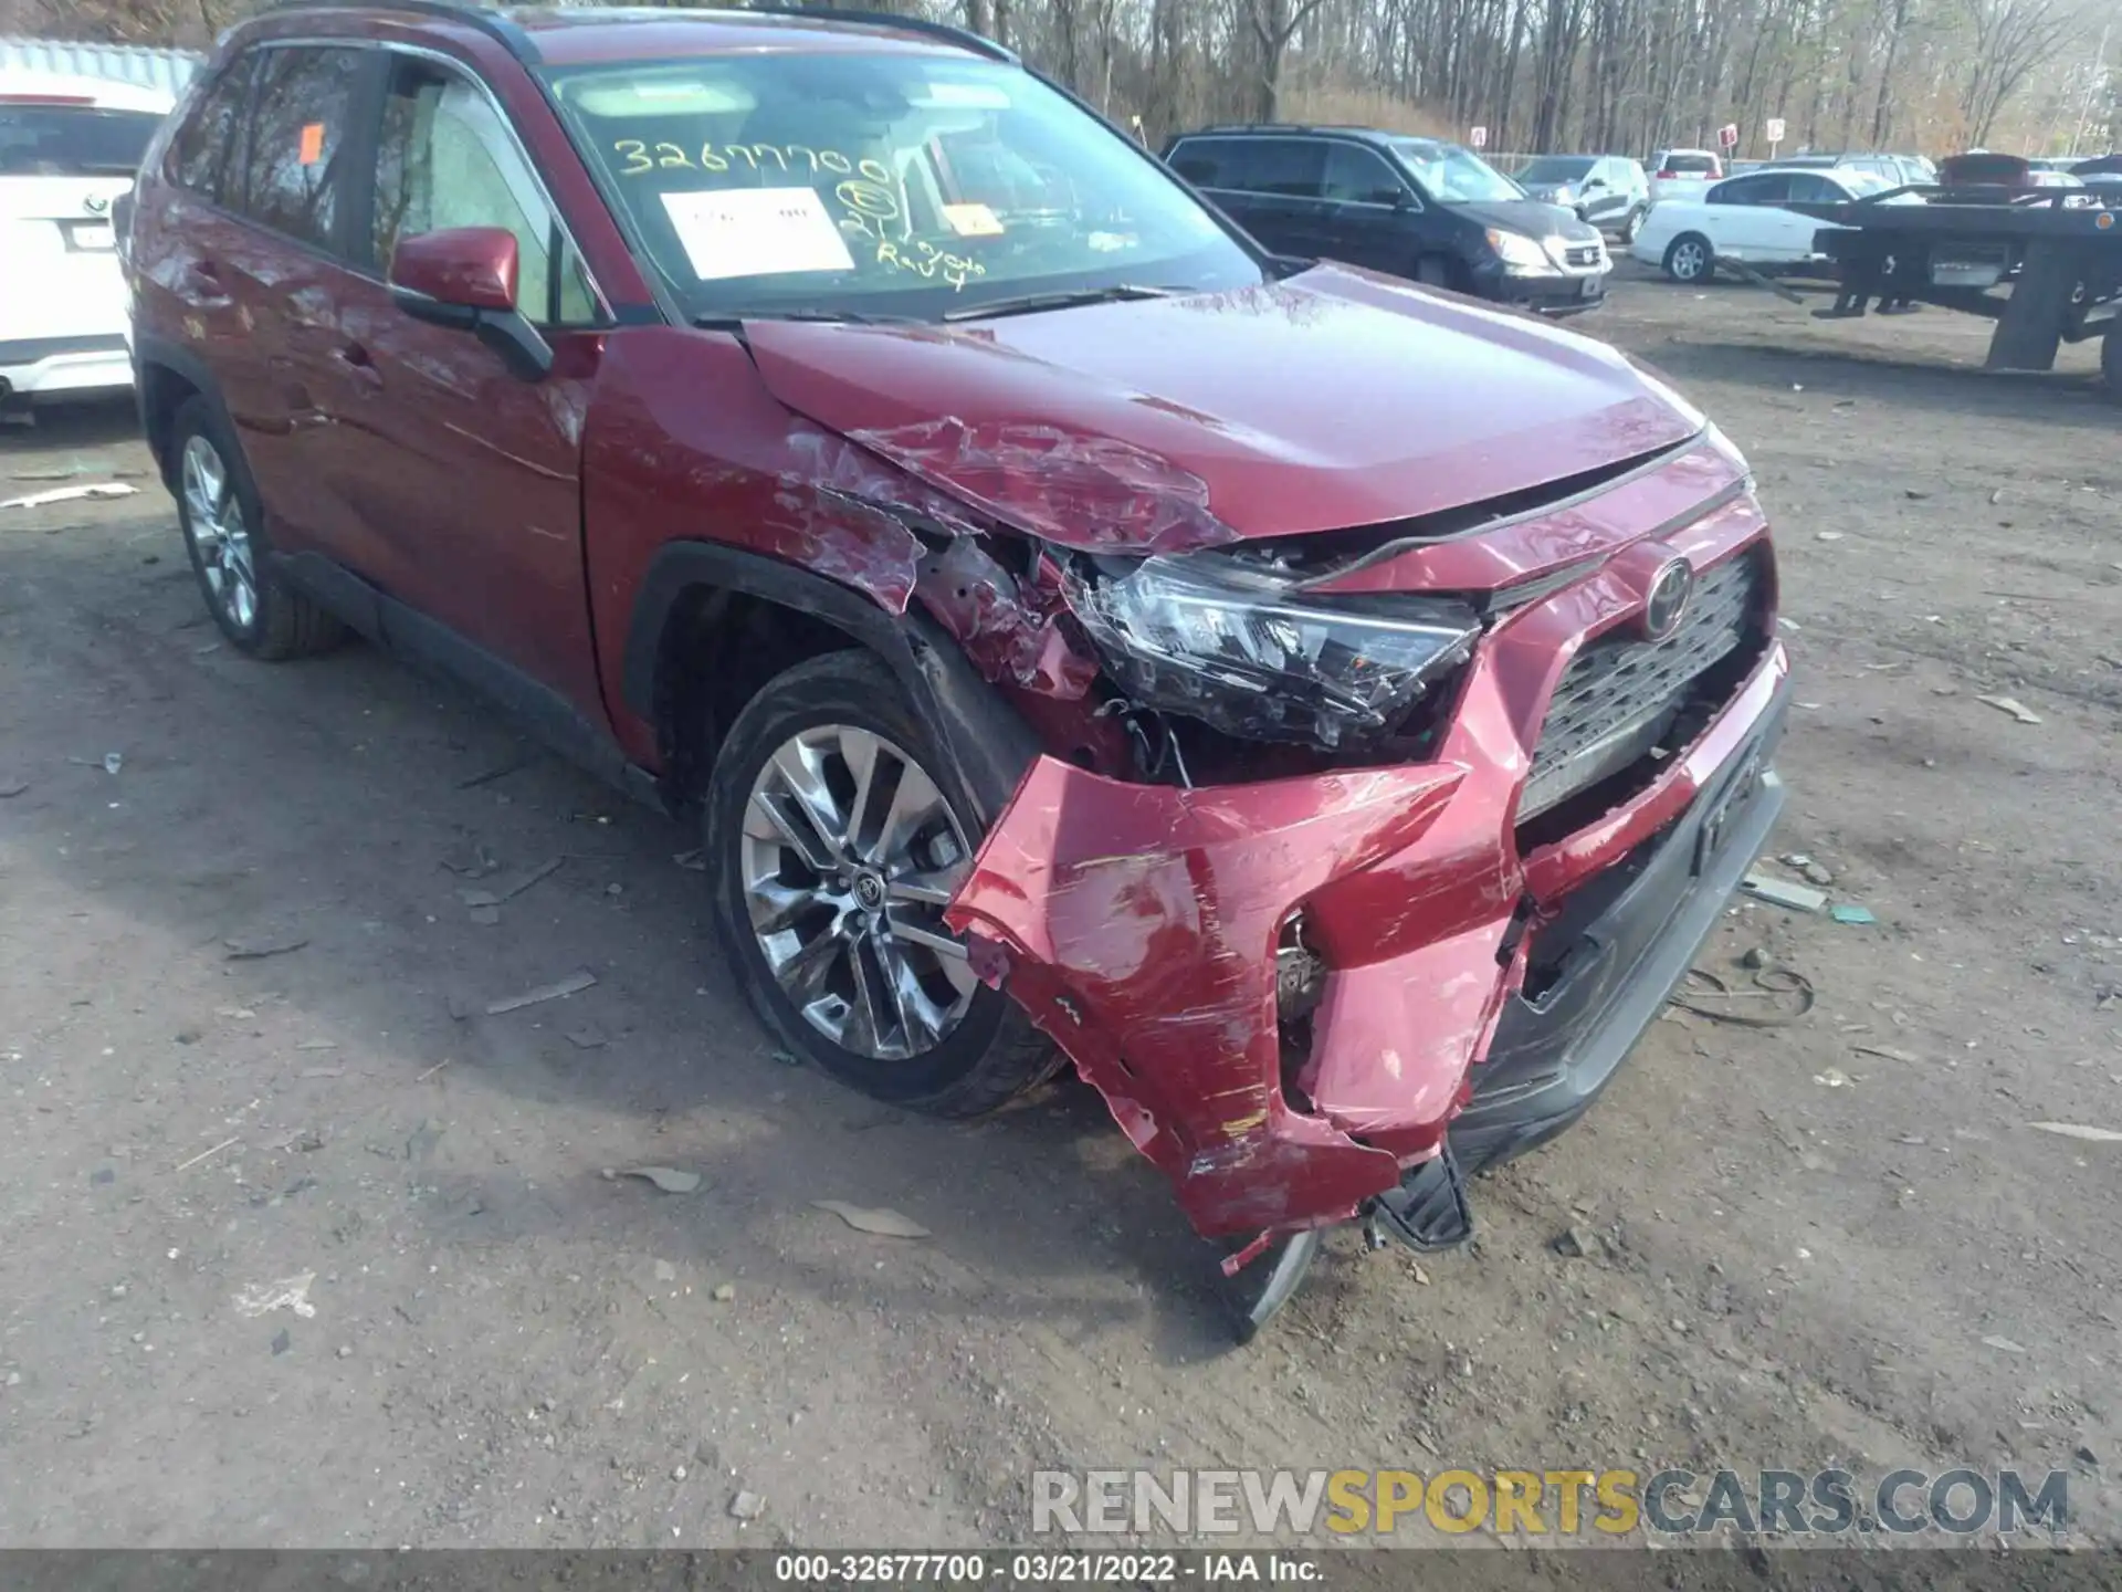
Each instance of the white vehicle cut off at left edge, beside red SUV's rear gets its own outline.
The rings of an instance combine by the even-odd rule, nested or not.
[[[132,325],[110,208],[168,89],[0,72],[0,403],[132,386]]]

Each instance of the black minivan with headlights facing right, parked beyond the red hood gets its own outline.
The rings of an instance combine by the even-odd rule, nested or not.
[[[1606,297],[1606,244],[1471,149],[1367,127],[1207,127],[1165,161],[1280,255],[1339,259],[1543,314]]]

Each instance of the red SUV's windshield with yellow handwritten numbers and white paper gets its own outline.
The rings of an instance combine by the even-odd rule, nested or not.
[[[694,318],[963,316],[1260,265],[1118,134],[1016,68],[715,55],[554,72],[554,96]]]

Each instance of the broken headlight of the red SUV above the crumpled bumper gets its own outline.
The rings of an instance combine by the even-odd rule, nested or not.
[[[1214,554],[1078,573],[1069,605],[1142,707],[1322,747],[1392,730],[1481,635],[1464,603],[1305,596]]]

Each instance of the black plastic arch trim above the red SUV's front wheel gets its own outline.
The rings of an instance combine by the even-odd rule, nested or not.
[[[946,773],[972,802],[982,830],[1002,815],[1042,751],[1025,717],[934,620],[915,609],[887,613],[849,586],[715,541],[666,543],[641,575],[626,628],[620,700],[643,722],[656,722],[656,671],[671,613],[700,588],[745,592],[808,613],[883,658],[936,732]]]

